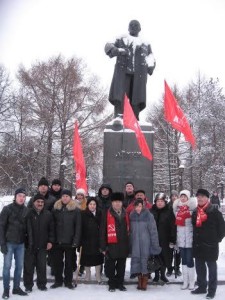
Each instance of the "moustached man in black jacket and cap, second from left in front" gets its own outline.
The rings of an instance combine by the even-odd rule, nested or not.
[[[37,287],[46,291],[47,250],[54,242],[54,222],[50,211],[44,209],[45,198],[41,194],[34,196],[33,208],[28,216],[28,226],[32,232],[32,248],[25,250],[23,282],[26,292],[32,291],[34,269],[37,271]]]

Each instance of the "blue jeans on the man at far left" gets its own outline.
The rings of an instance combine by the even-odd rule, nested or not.
[[[13,288],[18,289],[20,286],[21,273],[23,269],[23,261],[24,261],[24,244],[14,244],[7,243],[8,252],[4,254],[4,262],[3,262],[3,287],[4,289],[9,289],[10,282],[10,269],[12,266],[12,259],[14,256],[15,259],[15,270],[13,277]]]

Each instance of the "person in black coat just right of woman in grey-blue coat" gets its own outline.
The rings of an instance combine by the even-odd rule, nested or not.
[[[175,217],[167,204],[166,195],[158,193],[155,196],[154,205],[151,213],[153,214],[157,226],[159,245],[162,248],[160,257],[162,266],[155,271],[153,282],[157,283],[159,279],[164,283],[169,282],[166,278],[166,268],[170,267],[170,245],[176,244],[176,226]]]

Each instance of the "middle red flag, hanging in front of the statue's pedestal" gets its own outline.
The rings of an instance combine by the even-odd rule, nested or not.
[[[127,95],[125,95],[124,97],[123,125],[124,127],[129,128],[135,132],[142,155],[147,159],[152,160],[152,154],[145,140],[145,136],[141,131],[140,125],[138,124],[138,121],[134,115],[133,109],[130,106]]]

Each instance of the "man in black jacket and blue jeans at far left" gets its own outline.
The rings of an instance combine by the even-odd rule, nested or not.
[[[24,205],[26,192],[23,188],[15,191],[13,203],[3,207],[0,214],[0,245],[4,255],[3,262],[3,299],[9,298],[10,269],[12,259],[15,259],[15,271],[13,277],[12,293],[26,296],[20,288],[20,279],[24,262],[24,246],[27,242],[30,247],[32,243],[31,233],[27,226],[29,209]]]

